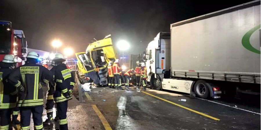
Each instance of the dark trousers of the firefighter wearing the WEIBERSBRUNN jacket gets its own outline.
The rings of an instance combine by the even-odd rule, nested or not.
[[[31,114],[34,121],[35,129],[43,129],[43,110],[44,106],[37,107],[20,107],[21,130],[30,129]]]

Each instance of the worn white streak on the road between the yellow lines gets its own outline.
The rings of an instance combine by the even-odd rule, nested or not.
[[[126,114],[125,112],[126,103],[127,103],[127,97],[121,96],[117,103],[119,115],[118,115],[116,128],[125,129],[125,130],[132,130],[135,128],[137,129],[138,126],[136,125],[135,120],[129,117],[128,114]]]

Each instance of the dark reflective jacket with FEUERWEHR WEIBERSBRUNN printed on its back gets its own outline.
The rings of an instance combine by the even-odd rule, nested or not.
[[[24,87],[18,92],[18,107],[35,107],[44,104],[43,89],[40,81],[53,81],[51,71],[38,64],[26,63],[10,73],[8,82],[13,86]]]

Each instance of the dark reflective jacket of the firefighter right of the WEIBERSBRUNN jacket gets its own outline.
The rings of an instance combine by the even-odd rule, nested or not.
[[[55,69],[55,93],[53,94],[53,100],[55,103],[63,102],[69,96],[68,90],[73,89],[75,84],[74,77],[71,74],[71,70],[66,67],[66,64],[59,64]]]

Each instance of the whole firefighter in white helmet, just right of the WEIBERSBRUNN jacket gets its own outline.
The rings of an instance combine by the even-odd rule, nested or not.
[[[68,130],[67,108],[68,100],[72,98],[72,90],[75,84],[71,71],[63,64],[64,56],[60,53],[53,59],[57,65],[55,68],[55,93],[53,94],[54,102],[57,106],[59,125],[61,130]]]

